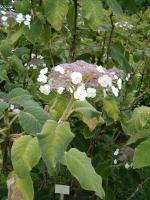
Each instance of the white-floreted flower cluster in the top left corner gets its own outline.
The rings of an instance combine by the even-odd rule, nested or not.
[[[23,23],[30,28],[31,16],[29,14],[23,15],[22,13],[16,14],[15,12],[0,11],[0,21],[3,26],[8,27],[8,20],[14,19],[18,24]]]

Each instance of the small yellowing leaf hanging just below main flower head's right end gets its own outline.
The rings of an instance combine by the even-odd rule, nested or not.
[[[111,117],[114,121],[119,119],[119,109],[116,101],[111,97],[106,97],[103,101],[103,109],[107,113],[109,117]]]

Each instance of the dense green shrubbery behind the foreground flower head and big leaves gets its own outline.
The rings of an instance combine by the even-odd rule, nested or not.
[[[149,109],[150,106],[150,1],[68,0],[69,7],[64,6],[64,9],[63,3],[66,1],[61,2],[62,5],[54,9],[48,6],[48,0],[15,0],[13,4],[9,0],[0,1],[0,10],[9,11],[13,5],[14,12],[32,16],[30,29],[14,22],[7,29],[2,24],[0,26],[0,98],[7,99],[14,88],[21,87],[42,108],[51,106],[53,97],[42,95],[38,89],[39,69],[26,70],[25,64],[30,62],[32,53],[42,55],[49,70],[58,64],[76,60],[96,63],[107,69],[121,68],[125,73],[124,86],[119,97],[110,101],[110,107],[103,107],[101,96],[90,101],[102,112],[104,123],[90,131],[76,114],[71,115],[69,122],[75,138],[68,148],[74,147],[86,152],[92,159],[96,172],[102,176],[106,200],[147,200],[150,196],[149,166],[126,169],[125,162],[114,165],[113,153],[116,148],[126,146],[135,149],[150,136],[143,136],[145,129],[150,132],[150,116],[145,114],[145,118],[145,115],[141,117],[142,110],[134,126],[130,127],[130,134],[123,127],[123,120],[129,121],[135,108],[145,106]],[[85,5],[83,2],[86,2]],[[114,26],[116,22],[122,21],[132,24],[133,28]],[[130,79],[125,81],[128,74]],[[60,100],[62,107],[66,103],[65,98]],[[57,116],[57,112],[61,113],[62,107],[58,104],[50,114]],[[0,112],[0,130],[5,127],[3,113]],[[12,119],[11,115],[9,117]],[[142,120],[146,124],[140,130],[142,136],[138,135],[135,142],[128,145],[129,138],[133,139]],[[13,138],[22,132],[27,134],[18,119],[11,126],[12,137],[6,138],[5,132],[0,131],[1,200],[7,198],[6,180],[13,169],[10,156]],[[143,156],[145,151],[148,149],[143,150]],[[56,183],[71,186],[71,195],[65,196],[65,199],[98,199],[93,192],[83,190],[62,165],[50,177],[45,164],[40,160],[32,169],[31,177],[36,200],[57,199],[58,196],[54,194]]]

